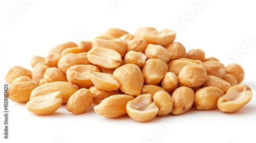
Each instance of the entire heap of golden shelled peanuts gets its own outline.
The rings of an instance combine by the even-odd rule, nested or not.
[[[134,34],[110,28],[92,41],[61,43],[31,59],[33,71],[14,66],[5,80],[8,98],[28,111],[49,115],[61,105],[73,114],[90,106],[104,117],[128,114],[147,122],[156,115],[218,107],[236,112],[252,98],[243,68],[224,66],[204,51],[186,52],[176,33],[141,27]]]

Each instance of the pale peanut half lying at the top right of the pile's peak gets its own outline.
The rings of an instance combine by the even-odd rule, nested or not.
[[[161,32],[153,30],[148,33],[141,33],[140,38],[146,40],[147,43],[166,46],[174,41],[176,33],[172,30],[164,29]]]

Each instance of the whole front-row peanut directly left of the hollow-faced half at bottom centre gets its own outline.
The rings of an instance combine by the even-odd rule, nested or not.
[[[126,104],[131,100],[134,100],[134,97],[126,94],[110,96],[94,106],[94,111],[104,117],[119,117],[127,113],[125,109]]]

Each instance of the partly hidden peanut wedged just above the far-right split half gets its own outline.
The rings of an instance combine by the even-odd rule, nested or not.
[[[224,94],[227,90],[231,87],[231,84],[221,78],[215,76],[208,76],[207,80],[203,84],[204,87],[206,86],[214,86],[220,88]]]

